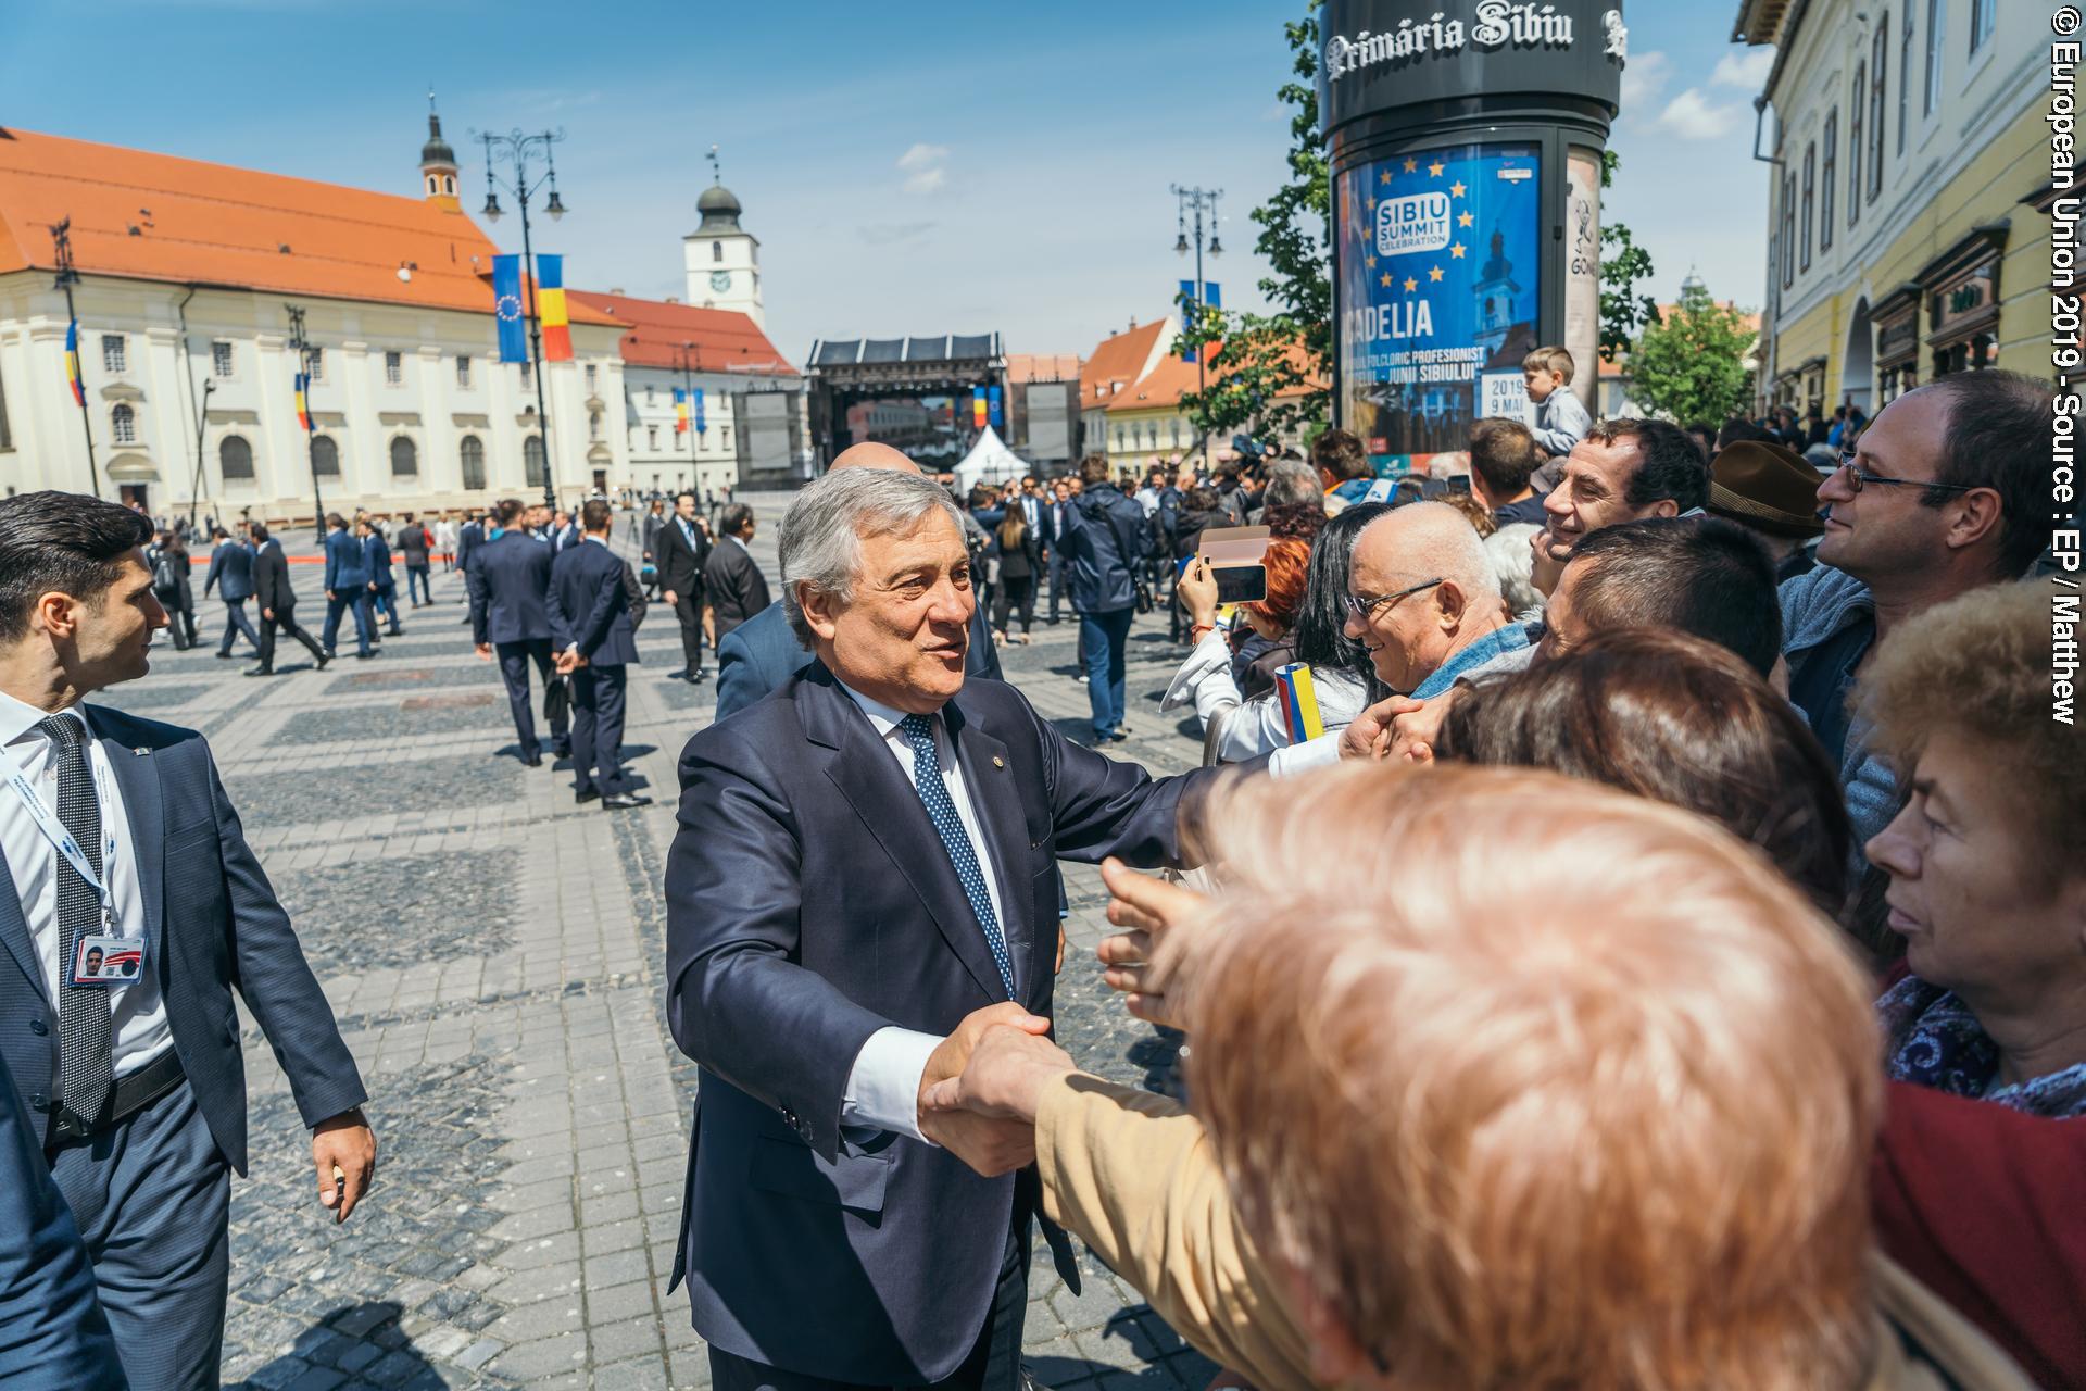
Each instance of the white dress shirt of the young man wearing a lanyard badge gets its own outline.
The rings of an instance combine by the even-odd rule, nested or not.
[[[129,815],[123,811],[123,792],[117,788],[108,755],[94,738],[94,726],[86,711],[71,709],[71,717],[88,726],[88,767],[94,772],[94,795],[102,809],[102,847],[115,836],[115,855],[102,855],[102,884],[115,897],[117,928],[131,941],[144,941],[144,893],[138,884],[138,853],[131,847]],[[58,809],[58,767],[50,738],[35,726],[46,719],[46,711],[17,701],[0,690],[0,747],[21,765],[21,772],[42,792],[44,805]],[[15,893],[21,895],[21,916],[29,924],[29,941],[35,943],[38,961],[44,968],[44,991],[50,1001],[58,999],[58,968],[63,947],[58,943],[58,847],[44,838],[29,809],[10,788],[0,788],[0,853],[6,853],[8,874],[15,876]],[[102,986],[108,991],[108,1005],[115,1014],[115,1074],[125,1076],[146,1066],[167,1051],[173,1034],[167,1030],[167,1005],[159,997],[159,963],[146,953],[144,970],[129,984]]]

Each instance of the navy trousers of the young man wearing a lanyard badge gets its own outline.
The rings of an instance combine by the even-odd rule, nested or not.
[[[232,1166],[188,1082],[63,1145],[50,1176],[88,1243],[129,1383],[215,1387],[232,1268]]]

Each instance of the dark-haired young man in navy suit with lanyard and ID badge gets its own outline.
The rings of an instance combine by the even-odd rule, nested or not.
[[[152,596],[125,507],[0,503],[0,1055],[42,1120],[136,1387],[217,1385],[229,1172],[246,1170],[238,989],[313,1128],[319,1201],[375,1172],[363,1080],[194,730],[86,705],[148,669]],[[142,972],[92,984],[92,936]],[[336,1197],[334,1172],[344,1176]]]

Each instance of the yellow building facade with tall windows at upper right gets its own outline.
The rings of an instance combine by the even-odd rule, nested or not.
[[[1948,371],[2051,375],[2048,25],[2003,0],[1744,0],[1758,142],[1761,405],[1875,413]]]

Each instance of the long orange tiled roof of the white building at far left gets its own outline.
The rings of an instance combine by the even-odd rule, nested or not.
[[[0,127],[0,273],[83,275],[492,313],[496,246],[421,198]],[[411,279],[398,279],[398,267]],[[611,323],[572,309],[574,323]]]

